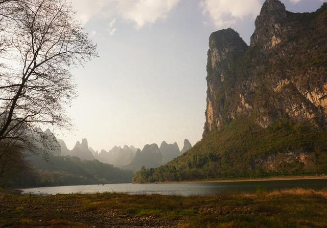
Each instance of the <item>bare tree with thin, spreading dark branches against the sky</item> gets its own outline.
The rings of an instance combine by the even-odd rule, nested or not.
[[[27,141],[26,129],[39,133],[40,125],[68,128],[65,107],[76,96],[69,70],[97,56],[96,45],[63,0],[11,2],[19,10],[2,2],[0,12],[10,15],[2,34],[11,43],[0,63],[0,142]]]

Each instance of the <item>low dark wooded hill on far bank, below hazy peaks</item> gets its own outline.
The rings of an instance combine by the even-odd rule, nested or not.
[[[130,183],[133,172],[120,170],[98,160],[81,160],[78,157],[61,157],[49,154],[29,157],[32,168],[4,180],[6,187],[60,186],[79,184]]]

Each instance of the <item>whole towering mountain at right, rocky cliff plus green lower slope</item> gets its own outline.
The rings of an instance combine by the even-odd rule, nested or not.
[[[232,29],[209,38],[203,138],[134,182],[327,171],[327,4],[292,13],[266,0],[247,46]]]

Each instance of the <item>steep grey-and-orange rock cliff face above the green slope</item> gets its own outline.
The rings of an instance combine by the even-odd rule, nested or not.
[[[292,13],[266,0],[248,47],[232,29],[209,38],[204,136],[240,117],[261,127],[285,120],[326,129],[327,4]]]

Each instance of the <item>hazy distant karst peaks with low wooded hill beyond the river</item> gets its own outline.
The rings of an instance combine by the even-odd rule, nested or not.
[[[21,180],[21,183],[15,183],[16,185],[130,182],[133,176],[131,171],[138,171],[142,167],[157,168],[192,148],[190,141],[185,139],[181,151],[176,142],[170,144],[162,141],[160,147],[155,143],[147,144],[143,150],[125,145],[115,146],[109,152],[98,152],[89,147],[87,139],[83,138],[69,150],[66,143],[61,139],[57,140],[51,130],[39,129],[38,132],[35,138],[37,151],[26,158],[33,173],[27,174],[29,177]]]

